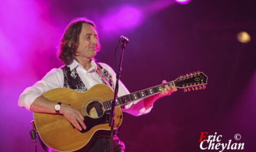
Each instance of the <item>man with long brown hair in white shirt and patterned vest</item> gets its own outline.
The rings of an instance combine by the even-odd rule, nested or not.
[[[37,81],[32,87],[26,88],[20,96],[18,105],[29,111],[63,115],[78,130],[86,129],[86,122],[83,122],[84,117],[81,111],[68,104],[48,100],[42,95],[51,89],[62,87],[85,92],[93,85],[102,83],[113,88],[116,82],[116,73],[109,65],[94,61],[94,57],[100,49],[101,45],[94,23],[86,18],[77,18],[72,21],[67,26],[60,42],[59,59],[65,66],[52,69],[42,80]],[[100,70],[103,71],[104,76],[101,75]],[[166,81],[163,81],[163,84],[166,84]],[[135,116],[147,114],[157,99],[170,95],[174,91],[177,91],[177,88],[165,85],[162,93],[127,104],[122,111]],[[119,81],[118,96],[128,93],[127,88]],[[108,138],[106,137],[97,138],[89,149],[89,151],[106,150],[108,150]],[[123,142],[114,136],[114,151],[124,150]]]

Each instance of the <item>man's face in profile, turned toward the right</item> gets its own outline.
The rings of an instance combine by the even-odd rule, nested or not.
[[[82,24],[82,30],[79,34],[79,45],[75,56],[91,59],[96,56],[100,50],[98,33],[90,24]]]

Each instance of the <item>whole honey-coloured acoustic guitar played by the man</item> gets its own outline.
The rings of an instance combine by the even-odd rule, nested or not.
[[[179,76],[167,85],[184,88],[184,91],[204,89],[208,77],[202,72]],[[120,106],[155,95],[162,91],[163,84],[143,89],[116,100],[114,130],[122,123],[123,114]],[[109,136],[108,125],[112,89],[105,84],[94,85],[86,92],[77,92],[68,88],[56,88],[44,93],[44,97],[56,102],[70,104],[81,111],[85,117],[86,130],[77,130],[63,115],[33,112],[38,137],[46,151],[77,151],[89,149],[91,142],[97,137]]]

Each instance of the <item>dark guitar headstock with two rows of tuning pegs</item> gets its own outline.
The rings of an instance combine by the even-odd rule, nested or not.
[[[198,89],[205,89],[208,77],[202,72],[193,72],[183,76],[179,76],[174,80],[177,88],[184,88],[184,92]]]

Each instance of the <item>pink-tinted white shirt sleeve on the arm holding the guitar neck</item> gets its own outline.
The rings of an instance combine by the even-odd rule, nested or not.
[[[116,73],[114,72],[114,70],[107,64],[104,64],[104,63],[99,63],[99,64],[110,72],[110,74],[113,77],[114,86],[116,86]],[[121,82],[121,80],[119,80],[119,92],[117,93],[117,96],[124,96],[129,93],[130,92],[125,87],[125,85]],[[143,114],[148,114],[148,112],[150,112],[151,109],[152,107],[147,109],[145,108],[144,99],[142,99],[142,100],[136,100],[135,102],[125,105],[122,111],[127,112],[128,114],[131,114],[134,116],[140,116]]]

